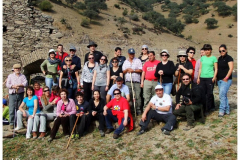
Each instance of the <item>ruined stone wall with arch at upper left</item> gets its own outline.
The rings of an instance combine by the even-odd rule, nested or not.
[[[28,65],[24,73],[31,73],[29,69],[39,66],[34,62],[47,58],[48,50],[56,48],[63,35],[53,27],[53,21],[29,6],[28,0],[3,0],[3,80],[13,64],[21,63],[23,69]]]

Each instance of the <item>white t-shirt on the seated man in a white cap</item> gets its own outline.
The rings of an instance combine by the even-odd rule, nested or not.
[[[164,93],[162,98],[159,98],[157,95],[153,96],[150,100],[151,103],[153,103],[156,107],[166,107],[166,106],[172,106],[172,98]],[[163,112],[156,110],[157,113],[159,114],[168,114],[172,113],[172,107],[170,107],[168,112]]]

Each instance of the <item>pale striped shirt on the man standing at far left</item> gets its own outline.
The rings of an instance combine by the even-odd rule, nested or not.
[[[16,89],[12,88],[13,85],[21,85],[21,84],[24,87],[27,86],[27,79],[26,79],[25,75],[23,75],[21,73],[19,74],[19,76],[17,76],[15,73],[8,75],[6,87],[9,88],[9,94],[16,93]],[[19,87],[17,93],[23,93],[23,92],[24,92],[24,88]]]

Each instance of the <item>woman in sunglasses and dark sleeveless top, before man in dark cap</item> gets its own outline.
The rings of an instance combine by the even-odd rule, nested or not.
[[[71,57],[66,57],[64,61],[66,63],[67,68],[66,69],[62,68],[62,70],[60,71],[59,87],[66,88],[69,93],[68,98],[74,99],[77,88],[80,88],[78,69],[77,67],[71,69],[72,64]]]

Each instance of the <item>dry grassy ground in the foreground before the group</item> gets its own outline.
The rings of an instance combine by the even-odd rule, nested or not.
[[[216,106],[219,106],[217,87],[214,89]],[[124,131],[115,140],[112,134],[101,137],[95,128],[78,140],[72,140],[66,149],[67,139],[57,134],[52,143],[44,140],[26,140],[25,135],[3,139],[4,159],[237,159],[237,86],[229,90],[231,114],[218,118],[218,110],[212,112],[205,124],[182,130],[184,119],[178,119],[178,127],[170,136],[161,132],[164,123],[152,123],[147,133],[136,136],[140,127]]]

